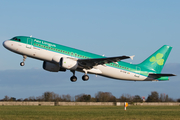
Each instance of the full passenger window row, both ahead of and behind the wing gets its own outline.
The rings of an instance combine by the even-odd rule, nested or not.
[[[68,55],[71,55],[71,56],[89,59],[89,57],[86,57],[86,56],[83,56],[83,55],[78,55],[77,53],[74,54],[73,52],[67,52],[67,51],[64,51],[64,50],[60,50],[60,49],[56,49],[56,48],[52,48],[52,47],[48,47],[48,46],[40,45],[40,44],[36,44],[36,43],[34,43],[34,45],[42,47],[42,48],[46,48],[46,49],[49,49],[49,50],[54,50],[54,51],[57,51],[57,52],[65,53],[65,54],[68,54]],[[113,64],[113,63],[110,63],[109,65],[115,66],[115,67],[118,67],[118,68],[122,68],[122,69],[130,70],[130,68],[123,67],[123,66],[120,66],[120,65],[117,65],[117,64]]]

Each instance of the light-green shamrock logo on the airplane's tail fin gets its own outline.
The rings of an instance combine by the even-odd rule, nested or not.
[[[153,62],[152,65],[153,65],[154,63],[156,63],[156,62],[157,62],[158,65],[163,65],[163,64],[164,64],[164,59],[162,59],[163,56],[164,56],[163,54],[158,53],[158,54],[156,55],[156,57],[153,56],[153,57],[150,59],[150,62]]]

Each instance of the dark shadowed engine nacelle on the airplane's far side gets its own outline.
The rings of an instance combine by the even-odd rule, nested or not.
[[[55,64],[47,61],[43,62],[43,69],[50,72],[66,71],[66,69],[61,68],[59,64]]]

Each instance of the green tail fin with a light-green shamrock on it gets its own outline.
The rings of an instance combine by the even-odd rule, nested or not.
[[[162,46],[159,50],[153,53],[150,57],[144,60],[139,66],[153,70],[156,73],[161,73],[162,68],[171,52],[172,47],[168,45]]]

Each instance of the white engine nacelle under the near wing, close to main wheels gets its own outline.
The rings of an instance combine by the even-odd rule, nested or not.
[[[78,62],[71,58],[61,58],[60,60],[61,67],[68,69],[68,70],[76,70],[78,67]]]

